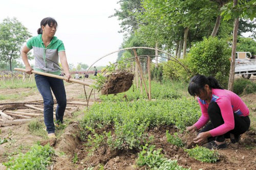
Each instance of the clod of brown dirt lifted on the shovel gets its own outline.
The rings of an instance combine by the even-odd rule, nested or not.
[[[101,89],[101,94],[116,94],[125,92],[133,84],[134,75],[127,71],[115,72],[107,76],[107,81]]]

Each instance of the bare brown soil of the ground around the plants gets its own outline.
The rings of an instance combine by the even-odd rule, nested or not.
[[[88,79],[89,81],[92,81]],[[66,92],[68,99],[80,99],[84,95],[83,86],[74,83],[66,83]],[[87,88],[87,87],[86,87]],[[1,94],[19,93],[22,90],[28,89],[7,89],[0,90]],[[87,88],[87,92],[90,91]],[[97,98],[96,94],[96,98]],[[255,117],[256,111],[256,94],[249,94],[242,96],[242,99],[250,108],[250,115]],[[8,102],[28,102],[39,101],[41,95],[38,91],[34,91],[32,95],[15,101],[0,101],[0,103]],[[84,103],[84,101],[80,101]],[[90,103],[92,104],[92,102]],[[84,105],[77,104],[80,110],[84,109]],[[81,111],[80,117],[83,112]],[[18,152],[26,153],[30,146],[39,141],[41,144],[51,142],[56,150],[56,156],[49,169],[87,169],[88,167],[95,167],[98,169],[100,164],[104,169],[145,169],[145,167],[137,167],[136,159],[139,150],[114,150],[111,151],[107,144],[102,143],[99,148],[92,152],[92,148],[86,147],[85,143],[79,139],[79,121],[76,122],[77,117],[73,117],[66,130],[55,141],[49,141],[46,138],[35,136],[28,130],[28,124],[1,127],[1,138],[9,138],[10,140],[0,145],[0,162],[8,160],[8,156],[15,156]],[[79,120],[79,119],[78,119]],[[254,120],[255,122],[255,120]],[[187,156],[182,148],[172,145],[166,141],[166,130],[169,133],[178,132],[178,129],[170,126],[155,127],[148,130],[148,134],[154,135],[153,144],[156,148],[161,148],[162,153],[168,159],[178,160],[178,164],[183,167],[191,167],[191,169],[256,169],[256,134],[255,126],[242,135],[239,143],[229,144],[227,149],[218,150],[220,153],[220,160],[217,163],[203,163]],[[109,129],[110,130],[110,129]],[[191,141],[195,138],[194,134],[183,133],[181,138],[186,142],[186,148],[193,147],[194,143]],[[227,139],[227,143],[230,140]],[[60,153],[65,153],[60,154]],[[77,156],[77,161],[74,158]],[[75,163],[74,163],[75,162]],[[0,169],[4,169],[0,165]]]

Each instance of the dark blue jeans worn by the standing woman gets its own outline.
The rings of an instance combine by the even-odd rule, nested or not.
[[[66,91],[64,87],[63,80],[42,76],[42,75],[35,75],[35,82],[37,89],[42,95],[42,99],[44,100],[44,119],[46,130],[48,133],[54,133],[54,121],[53,121],[53,96],[51,89],[55,95],[57,101],[57,108],[56,108],[56,121],[62,122],[64,112],[67,105],[66,99]]]

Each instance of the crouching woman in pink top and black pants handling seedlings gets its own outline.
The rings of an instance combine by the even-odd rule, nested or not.
[[[207,141],[204,147],[208,149],[226,148],[225,138],[236,143],[249,129],[249,109],[237,94],[221,88],[215,78],[194,76],[190,79],[188,92],[198,97],[202,115],[196,124],[186,128],[187,131],[194,132],[210,120],[194,139],[195,143]]]

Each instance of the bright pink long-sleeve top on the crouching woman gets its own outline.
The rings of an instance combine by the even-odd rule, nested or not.
[[[211,102],[216,102],[218,104],[221,110],[222,118],[224,120],[224,124],[209,131],[211,136],[215,137],[223,135],[234,129],[234,113],[239,116],[248,116],[249,109],[242,101],[242,99],[232,91],[212,88],[211,92]],[[209,104],[200,98],[198,98],[198,103],[201,107],[202,115],[197,123],[194,124],[194,126],[196,126],[197,129],[200,129],[209,121],[209,115],[207,112]]]

